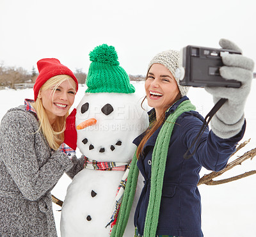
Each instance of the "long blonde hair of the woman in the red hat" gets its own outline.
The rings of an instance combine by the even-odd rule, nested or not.
[[[68,75],[56,75],[54,77],[51,77],[45,84],[40,88],[40,91],[44,91],[46,89],[51,88],[54,86],[54,89],[51,93],[55,93],[56,89],[62,82],[65,80],[72,79],[72,77]],[[72,79],[73,80],[73,79]],[[74,88],[76,90],[76,88]],[[40,91],[38,95],[40,95]],[[45,136],[46,141],[48,142],[50,148],[56,150],[60,147],[61,143],[64,141],[64,131],[66,128],[66,118],[69,114],[65,114],[65,116],[57,116],[56,121],[51,125],[48,119],[48,116],[45,112],[42,99],[36,98],[36,101],[34,103],[31,103],[33,108],[36,110],[37,117],[40,122],[40,127],[38,129],[42,130],[42,133]]]

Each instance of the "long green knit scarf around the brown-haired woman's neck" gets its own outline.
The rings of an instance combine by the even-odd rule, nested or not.
[[[162,197],[163,178],[166,165],[166,158],[168,147],[172,136],[173,126],[176,119],[184,112],[195,111],[195,106],[192,105],[190,100],[185,100],[180,103],[177,109],[168,116],[164,122],[156,139],[152,154],[152,171],[150,180],[150,196],[148,202],[147,215],[144,226],[144,237],[156,237],[156,230],[159,218],[160,203]],[[138,166],[136,153],[132,158],[132,163],[125,186],[124,197],[120,206],[120,211],[116,220],[116,224],[111,231],[111,236],[123,236],[125,227],[127,226],[128,218],[130,215],[132,202],[138,181]]]

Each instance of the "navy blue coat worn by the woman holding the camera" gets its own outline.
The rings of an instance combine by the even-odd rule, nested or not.
[[[166,112],[166,117],[175,111],[177,106],[188,100],[181,98]],[[148,114],[151,114],[152,109]],[[201,230],[201,201],[197,188],[199,172],[203,167],[211,171],[225,168],[228,158],[235,151],[245,130],[245,121],[239,134],[230,139],[221,139],[207,128],[200,138],[198,149],[193,157],[185,160],[184,153],[198,134],[204,118],[196,111],[184,112],[177,118],[173,128],[168,149],[166,169],[164,172],[163,192],[157,234],[171,236],[200,237]],[[143,148],[143,156],[138,160],[138,168],[145,178],[140,200],[134,215],[134,225],[138,233],[143,234],[150,194],[151,160],[157,135],[161,127],[148,139]],[[138,146],[144,134],[134,140]],[[191,149],[191,153],[195,147]]]

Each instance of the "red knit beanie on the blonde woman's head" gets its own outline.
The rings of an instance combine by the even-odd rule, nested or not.
[[[44,58],[40,59],[37,62],[37,68],[39,75],[36,78],[36,82],[34,85],[34,95],[35,95],[35,100],[38,96],[40,88],[44,85],[47,80],[49,80],[51,77],[54,77],[56,75],[69,75],[74,79],[76,82],[76,91],[78,89],[78,82],[77,79],[72,73],[70,69],[67,68],[67,66],[64,66],[60,63],[60,61],[56,58]]]

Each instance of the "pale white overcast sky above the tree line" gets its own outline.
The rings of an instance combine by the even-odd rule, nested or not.
[[[256,61],[255,0],[0,0],[0,63],[31,71],[43,57],[88,72],[88,54],[113,45],[127,73],[155,54],[228,38]]]

